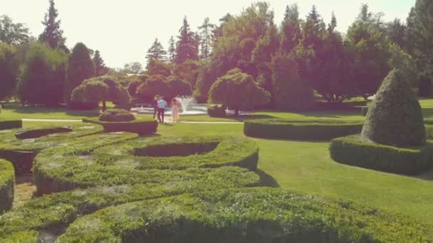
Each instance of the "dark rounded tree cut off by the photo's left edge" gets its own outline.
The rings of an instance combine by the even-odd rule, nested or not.
[[[16,49],[6,43],[0,43],[0,100],[13,94],[17,72]]]

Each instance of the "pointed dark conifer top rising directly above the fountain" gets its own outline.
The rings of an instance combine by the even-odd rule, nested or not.
[[[180,36],[177,41],[175,63],[182,64],[184,61],[198,59],[197,39],[195,33],[189,29],[187,17],[184,18],[182,28],[179,30]]]

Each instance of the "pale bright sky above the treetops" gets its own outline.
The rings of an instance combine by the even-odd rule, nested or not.
[[[27,23],[31,33],[43,31],[41,21],[48,9],[48,0],[0,0],[0,15],[6,14],[14,22]],[[226,13],[238,14],[251,5],[251,0],[56,0],[61,27],[69,48],[83,42],[89,48],[100,50],[105,63],[122,67],[125,63],[145,64],[145,55],[155,38],[167,49],[170,36],[177,36],[182,19],[187,16],[196,31],[204,18],[212,23]],[[358,16],[361,4],[370,5],[370,11],[385,13],[385,19],[406,19],[415,0],[268,0],[275,12],[276,23],[281,23],[287,4],[298,3],[304,17],[315,4],[325,22],[332,11],[338,20],[338,29],[345,32]]]

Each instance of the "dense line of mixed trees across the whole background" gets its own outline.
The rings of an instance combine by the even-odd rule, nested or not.
[[[24,23],[0,16],[0,99],[86,107],[82,102],[91,99],[74,102],[73,90],[84,80],[111,75],[110,80],[128,88],[135,99],[191,95],[194,90],[194,97],[207,102],[224,98],[212,92],[219,90],[214,87],[218,80],[231,85],[253,80],[270,95],[268,105],[298,110],[311,107],[314,91],[328,102],[373,95],[394,68],[402,70],[419,95],[431,95],[432,9],[432,1],[417,0],[405,21],[387,23],[383,13],[372,13],[363,5],[348,31],[340,33],[338,13],[325,23],[315,6],[303,18],[293,4],[283,12],[283,21],[275,23],[271,6],[257,2],[239,15],[227,13],[217,24],[205,18],[197,31],[185,17],[167,49],[155,38],[145,67],[134,62],[113,69],[106,67],[98,50],[83,43],[66,48],[59,13],[49,0],[38,38]],[[236,75],[228,75],[232,70]],[[87,83],[104,86],[95,80]],[[75,104],[78,101],[81,104]],[[88,107],[94,107],[93,99],[92,103]]]

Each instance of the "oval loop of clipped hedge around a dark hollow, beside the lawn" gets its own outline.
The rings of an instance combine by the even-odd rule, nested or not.
[[[99,148],[92,156],[103,166],[130,163],[137,170],[239,166],[256,171],[259,146],[251,139],[236,137],[160,137]]]

